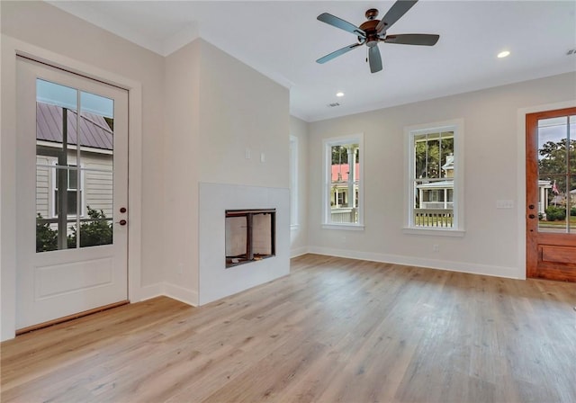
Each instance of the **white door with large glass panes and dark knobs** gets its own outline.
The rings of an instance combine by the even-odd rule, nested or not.
[[[16,328],[128,300],[128,93],[17,61]]]

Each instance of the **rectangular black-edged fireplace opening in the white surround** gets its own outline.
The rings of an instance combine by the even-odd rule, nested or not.
[[[226,210],[226,268],[275,255],[276,209]]]

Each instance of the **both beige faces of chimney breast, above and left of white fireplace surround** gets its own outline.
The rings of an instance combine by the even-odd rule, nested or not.
[[[253,68],[205,40],[194,40],[166,58],[163,243],[169,295],[192,304],[207,300],[199,298],[199,217],[205,213],[200,210],[199,185],[287,188],[289,130],[288,90]],[[216,222],[221,219],[223,230],[224,209],[220,213]],[[223,258],[220,255],[216,259]]]

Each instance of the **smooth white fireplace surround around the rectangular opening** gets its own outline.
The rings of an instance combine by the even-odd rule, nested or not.
[[[199,188],[200,305],[290,273],[290,192],[284,188],[201,183]],[[226,268],[226,210],[276,209],[275,256]]]

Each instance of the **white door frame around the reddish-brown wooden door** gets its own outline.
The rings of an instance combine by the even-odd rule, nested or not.
[[[543,103],[536,106],[518,109],[517,113],[517,219],[518,219],[518,278],[527,279],[527,225],[526,225],[526,116],[529,113],[554,111],[574,108],[576,100],[560,103]]]

